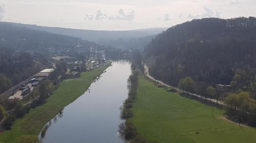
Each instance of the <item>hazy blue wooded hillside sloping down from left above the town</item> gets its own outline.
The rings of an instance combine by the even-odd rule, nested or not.
[[[81,40],[80,38],[0,22],[0,47],[13,49],[71,48],[77,46],[77,44],[84,47],[97,46],[94,42]]]

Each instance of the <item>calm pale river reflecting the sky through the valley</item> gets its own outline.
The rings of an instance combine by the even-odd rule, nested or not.
[[[124,142],[118,135],[119,107],[127,98],[130,62],[113,61],[101,77],[49,125],[43,143]],[[39,135],[40,137],[41,135]]]

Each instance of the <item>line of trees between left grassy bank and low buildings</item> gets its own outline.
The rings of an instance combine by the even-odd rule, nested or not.
[[[57,66],[58,65],[58,66]],[[2,128],[10,130],[16,119],[23,118],[31,108],[35,108],[44,104],[46,99],[49,98],[53,91],[58,88],[60,77],[67,72],[67,65],[65,62],[60,61],[56,63],[56,69],[52,73],[50,79],[43,80],[36,87],[32,93],[30,93],[23,100],[0,100],[0,121],[2,121]],[[65,78],[65,77],[63,77]],[[32,100],[32,103],[25,104]]]

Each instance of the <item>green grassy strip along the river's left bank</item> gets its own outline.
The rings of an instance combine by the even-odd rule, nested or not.
[[[90,72],[81,73],[80,78],[63,80],[42,106],[31,109],[24,118],[16,120],[12,129],[0,134],[0,142],[8,143],[24,134],[38,135],[42,127],[54,118],[65,106],[81,96],[94,79],[109,66],[102,66]]]

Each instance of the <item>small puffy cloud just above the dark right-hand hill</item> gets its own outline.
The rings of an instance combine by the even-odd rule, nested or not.
[[[212,11],[211,9],[204,7],[204,13],[203,14],[191,14],[189,13],[187,15],[187,19],[198,19],[198,18],[210,18],[210,17],[220,17],[221,12],[220,11]]]

